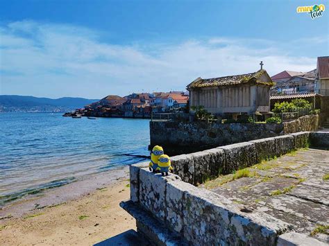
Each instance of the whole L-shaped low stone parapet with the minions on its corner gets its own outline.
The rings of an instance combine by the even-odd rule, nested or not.
[[[137,231],[156,245],[296,245],[302,239],[322,245],[276,216],[193,184],[305,148],[310,139],[328,138],[328,132],[298,132],[180,155],[171,158],[175,175],[168,177],[150,173],[147,162],[134,164],[130,201],[121,207],[136,218]]]

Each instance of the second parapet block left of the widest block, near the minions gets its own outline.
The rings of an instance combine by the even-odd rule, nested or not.
[[[210,153],[200,151],[191,155],[194,161],[194,184],[202,184],[210,178]]]

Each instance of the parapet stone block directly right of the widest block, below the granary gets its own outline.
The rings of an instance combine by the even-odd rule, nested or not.
[[[250,141],[255,143],[257,163],[262,160],[271,159],[276,156],[276,140],[273,138],[258,139]]]

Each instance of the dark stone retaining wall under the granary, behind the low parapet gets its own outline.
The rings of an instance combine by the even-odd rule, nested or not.
[[[152,121],[150,139],[151,146],[160,145],[169,155],[179,155],[293,132],[312,132],[318,128],[318,115],[303,116],[280,124]]]

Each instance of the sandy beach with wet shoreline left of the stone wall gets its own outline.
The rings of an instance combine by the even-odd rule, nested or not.
[[[135,229],[119,202],[128,167],[28,197],[0,211],[0,245],[92,245]]]

